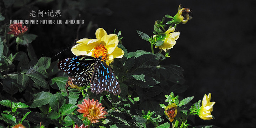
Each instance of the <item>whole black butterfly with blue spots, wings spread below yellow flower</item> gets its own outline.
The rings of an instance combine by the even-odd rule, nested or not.
[[[58,68],[67,73],[69,81],[77,86],[91,84],[91,92],[99,94],[108,91],[114,95],[120,94],[120,85],[112,69],[101,61],[102,56],[94,58],[79,55],[67,58],[58,63]],[[68,82],[67,82],[68,83]]]

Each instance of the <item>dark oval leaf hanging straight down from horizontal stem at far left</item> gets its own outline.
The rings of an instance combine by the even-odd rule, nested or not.
[[[24,91],[28,86],[29,78],[26,74],[18,74],[17,84],[19,91]]]

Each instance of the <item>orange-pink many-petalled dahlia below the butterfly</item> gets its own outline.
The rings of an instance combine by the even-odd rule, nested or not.
[[[106,118],[104,115],[107,114],[105,107],[102,107],[102,104],[98,102],[98,100],[94,101],[94,99],[88,100],[84,99],[82,105],[76,105],[79,107],[77,110],[80,113],[83,113],[84,117],[87,117],[91,123],[99,122],[98,119]]]

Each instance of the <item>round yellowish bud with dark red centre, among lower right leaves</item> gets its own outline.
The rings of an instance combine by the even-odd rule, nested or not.
[[[169,118],[170,122],[174,121],[174,118],[178,113],[176,103],[171,103],[170,105],[166,106],[164,113]]]

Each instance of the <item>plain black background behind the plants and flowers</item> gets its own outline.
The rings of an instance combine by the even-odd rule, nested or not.
[[[1,1],[1,4],[6,6],[8,2]],[[196,124],[255,127],[255,0],[16,0],[3,14],[6,20],[85,21],[79,33],[79,25],[27,25],[29,33],[38,35],[32,42],[38,57],[54,57],[77,39],[95,38],[99,27],[108,34],[121,30],[122,44],[128,52],[138,49],[150,52],[150,44],[140,39],[136,30],[153,35],[154,22],[166,14],[174,16],[179,4],[192,9],[193,18],[177,26],[180,38],[171,49],[171,57],[163,63],[184,69],[185,85],[189,88],[183,96],[194,96],[193,102],[197,102],[211,92],[211,101],[216,101],[212,112],[215,119],[203,121],[196,117]],[[32,9],[60,10],[62,16],[34,18],[29,16]],[[67,57],[72,53],[65,54]]]

